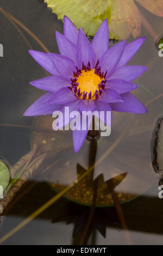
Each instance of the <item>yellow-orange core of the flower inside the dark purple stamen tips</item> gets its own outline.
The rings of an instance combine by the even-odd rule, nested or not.
[[[77,90],[80,88],[80,93],[87,93],[85,99],[89,99],[89,94],[91,92],[91,95],[93,96],[98,91],[99,94],[99,88],[98,84],[102,81],[101,77],[95,74],[95,69],[92,69],[90,71],[82,70],[82,74],[79,75],[77,83],[79,83]],[[78,95],[77,95],[78,96]],[[79,99],[83,99],[82,96],[78,96]],[[96,99],[96,96],[93,96],[91,98],[92,100]]]

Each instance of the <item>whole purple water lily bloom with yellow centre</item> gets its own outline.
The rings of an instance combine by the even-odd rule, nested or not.
[[[56,32],[56,38],[60,55],[29,51],[36,62],[52,76],[30,83],[48,93],[36,100],[24,115],[48,115],[58,110],[64,113],[65,107],[79,112],[147,113],[146,107],[129,93],[138,87],[131,81],[142,75],[147,68],[126,65],[145,38],[139,38],[128,45],[122,41],[109,48],[108,22],[104,20],[90,43],[82,28],[78,31],[66,16],[64,35]],[[102,121],[107,123],[106,118]],[[73,131],[76,153],[82,147],[88,130],[89,127]]]

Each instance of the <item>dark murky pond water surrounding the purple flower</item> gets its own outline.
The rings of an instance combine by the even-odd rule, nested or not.
[[[0,0],[0,156],[10,163],[12,174],[17,171],[13,164],[19,164],[23,156],[19,169],[28,163],[34,170],[4,211],[0,224],[2,244],[162,244],[163,199],[158,196],[159,167],[154,170],[152,164],[158,164],[153,131],[158,130],[155,125],[163,115],[162,97],[158,97],[162,94],[163,57],[155,47],[155,41],[163,34],[162,18],[140,5],[139,9],[149,22],[141,29],[147,39],[130,64],[148,66],[146,74],[136,80],[139,88],[134,92],[148,113],[114,113],[111,135],[97,142],[86,140],[75,154],[72,132],[53,132],[52,117],[23,117],[24,111],[43,94],[29,82],[48,75],[28,50],[45,51],[43,44],[50,52],[58,53],[55,31],[62,33],[62,22],[39,0]],[[33,34],[17,22],[13,24],[10,15]],[[157,36],[151,33],[150,26]],[[132,40],[133,36],[127,39]],[[110,41],[110,46],[114,44]],[[92,163],[94,170],[83,176]],[[73,182],[77,182],[74,187]],[[4,238],[61,191],[65,192],[56,202]]]

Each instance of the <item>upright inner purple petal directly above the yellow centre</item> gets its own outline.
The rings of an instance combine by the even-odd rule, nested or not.
[[[86,35],[82,31],[82,28],[79,29],[79,37],[78,37],[78,44],[77,44],[77,58],[79,68],[82,69],[83,63],[87,66],[90,63],[91,68],[95,67],[95,52],[86,38]]]

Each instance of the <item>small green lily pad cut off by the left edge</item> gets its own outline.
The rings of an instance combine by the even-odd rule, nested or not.
[[[3,187],[3,191],[7,188],[10,181],[10,172],[7,164],[0,162],[0,186]]]

